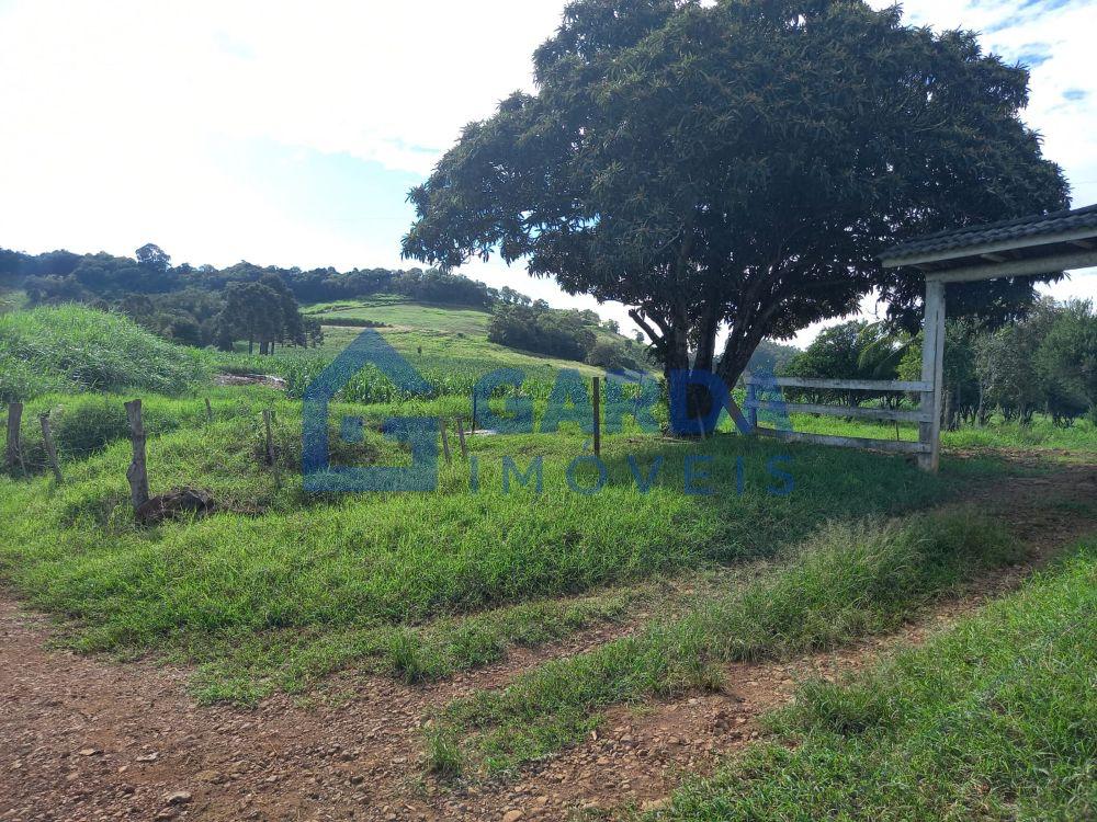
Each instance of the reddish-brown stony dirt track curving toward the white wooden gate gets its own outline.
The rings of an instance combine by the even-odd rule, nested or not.
[[[972,494],[1033,547],[1038,562],[1097,523],[1048,500],[1097,499],[1093,468],[1010,479]],[[0,820],[556,820],[622,802],[657,803],[687,772],[757,735],[757,718],[795,680],[869,664],[1017,584],[1031,566],[984,580],[896,636],[788,664],[736,665],[730,690],[611,712],[600,735],[520,780],[453,791],[422,777],[418,724],[429,709],[506,682],[546,654],[415,688],[347,676],[353,697],[313,707],[287,697],[256,710],[199,708],[188,672],[47,649],[49,626],[0,593]],[[553,655],[603,641],[593,632]],[[518,814],[518,815],[516,815]]]

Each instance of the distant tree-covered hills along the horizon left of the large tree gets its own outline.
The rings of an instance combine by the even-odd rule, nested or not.
[[[178,343],[230,350],[235,342],[312,345],[328,326],[456,331],[516,351],[606,368],[647,365],[645,346],[593,311],[557,310],[509,287],[442,271],[302,271],[241,262],[227,269],[171,264],[155,244],[133,258],[0,249],[0,288],[30,305],[84,302],[114,309]],[[265,289],[265,290],[264,290]],[[274,293],[270,293],[273,290]],[[302,318],[297,304],[310,305]],[[275,321],[275,315],[282,317]]]

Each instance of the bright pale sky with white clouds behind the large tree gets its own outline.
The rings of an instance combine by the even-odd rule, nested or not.
[[[873,0],[874,5],[889,3]],[[516,89],[564,0],[0,0],[0,247],[409,267],[407,191]],[[1097,203],[1097,0],[908,0],[1032,70],[1026,121]],[[598,306],[521,265],[461,273]],[[1049,286],[1097,299],[1097,272]],[[872,300],[864,311],[871,316]],[[806,344],[818,328],[796,338]]]

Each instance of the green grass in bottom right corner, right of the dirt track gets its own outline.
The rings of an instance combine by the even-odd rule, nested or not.
[[[811,683],[651,820],[1097,817],[1097,537],[920,649]]]

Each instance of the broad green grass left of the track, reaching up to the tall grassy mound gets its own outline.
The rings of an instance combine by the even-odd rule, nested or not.
[[[53,319],[71,332],[46,328]],[[27,476],[16,469],[0,478],[0,575],[37,607],[63,617],[73,647],[199,663],[196,688],[204,699],[253,701],[274,689],[299,692],[348,666],[409,681],[446,676],[501,659],[514,646],[556,641],[622,618],[635,592],[649,594],[653,580],[773,557],[825,521],[926,506],[959,482],[1000,469],[981,465],[928,477],[901,457],[738,436],[670,442],[630,430],[604,437],[609,482],[587,496],[565,482],[570,461],[589,447],[586,436],[568,429],[473,437],[476,493],[468,465],[457,459],[441,468],[439,490],[431,494],[312,495],[299,477],[301,407],[293,399],[265,388],[213,388],[182,378],[171,385],[180,396],[156,393],[149,380],[162,383],[172,374],[157,357],[176,365],[181,357],[201,374],[195,364],[211,355],[180,354],[116,316],[37,309],[3,322],[10,339],[33,343],[24,352],[25,370],[64,374],[68,390],[77,377],[100,375],[80,383],[100,388],[44,393],[27,403]],[[114,330],[120,335],[108,333]],[[451,381],[434,397],[372,393],[369,404],[333,403],[333,433],[343,414],[367,423],[360,444],[332,436],[337,465],[407,464],[406,448],[381,435],[381,421],[467,419],[470,399],[457,389],[489,366],[521,366],[525,357],[541,368],[535,374],[544,385],[529,392],[542,409],[553,369],[567,365],[461,332],[386,333],[404,351],[415,345],[412,358],[421,344],[423,370],[429,376],[427,363],[440,362]],[[307,378],[325,354],[287,351],[246,362],[228,356],[253,370],[295,363]],[[365,375],[362,385],[369,388],[370,379]],[[115,392],[104,392],[106,387]],[[133,396],[145,402],[152,493],[201,488],[216,500],[215,515],[156,528],[133,525],[122,410]],[[281,482],[263,465],[264,408],[275,412]],[[65,473],[60,486],[45,470],[39,413],[50,415]],[[451,446],[456,454],[455,437]],[[782,484],[767,468],[777,456],[791,457],[780,466],[795,483],[787,496],[768,492]],[[540,457],[543,493],[504,493],[505,457],[523,470]],[[629,457],[645,472],[664,460],[649,493],[637,491]],[[687,460],[697,457],[713,460],[705,466],[712,477],[698,483],[711,495],[683,493]],[[583,475],[580,482],[590,479]],[[534,639],[534,625],[543,639]]]

